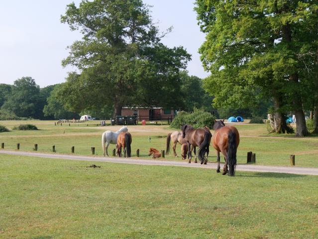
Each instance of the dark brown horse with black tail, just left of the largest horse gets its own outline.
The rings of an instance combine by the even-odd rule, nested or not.
[[[201,164],[207,164],[209,156],[209,146],[211,142],[212,133],[207,127],[194,129],[190,124],[184,124],[181,127],[182,136],[186,139],[188,146],[188,158],[191,163],[191,146],[199,147],[198,158]],[[205,154],[207,153],[207,158]]]

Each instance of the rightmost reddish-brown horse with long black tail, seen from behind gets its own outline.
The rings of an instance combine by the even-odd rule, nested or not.
[[[222,152],[225,159],[223,175],[225,175],[228,171],[229,176],[234,176],[236,166],[236,150],[239,144],[239,133],[234,126],[225,126],[224,119],[217,121],[215,120],[213,129],[214,134],[212,137],[212,142],[217,154],[216,172],[220,172],[220,152]]]

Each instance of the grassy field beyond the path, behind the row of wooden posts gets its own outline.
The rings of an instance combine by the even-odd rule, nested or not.
[[[20,150],[32,151],[34,144],[38,144],[38,151],[52,152],[52,145],[56,146],[57,153],[70,153],[75,146],[75,154],[89,155],[91,147],[96,147],[96,155],[102,156],[101,135],[104,131],[117,130],[120,126],[96,126],[99,121],[76,123],[68,126],[54,126],[53,121],[0,121],[0,124],[12,128],[20,123],[34,123],[40,130],[18,131],[0,133],[0,142],[4,142],[5,149],[14,150],[16,143],[20,143]],[[237,152],[238,163],[246,163],[248,151],[256,153],[256,164],[259,165],[289,165],[289,156],[296,155],[296,166],[318,167],[318,137],[297,138],[293,135],[268,134],[265,124],[235,124],[238,128],[241,140]],[[169,125],[134,125],[128,126],[133,137],[132,156],[136,156],[136,149],[140,149],[140,158],[149,158],[150,147],[165,149],[165,136],[174,131]],[[212,132],[213,133],[213,132]],[[151,136],[151,142],[148,137]],[[110,145],[109,155],[114,148]],[[52,152],[53,153],[53,152]],[[180,155],[180,145],[177,147]],[[214,149],[210,149],[209,161],[216,161]],[[167,156],[165,160],[181,160],[173,156]]]

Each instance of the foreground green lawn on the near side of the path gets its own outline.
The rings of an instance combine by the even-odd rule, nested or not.
[[[317,176],[0,155],[0,238],[318,238]]]

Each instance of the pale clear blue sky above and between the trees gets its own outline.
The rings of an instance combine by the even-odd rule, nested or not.
[[[0,7],[0,83],[13,84],[22,76],[31,76],[40,87],[65,81],[68,71],[61,60],[66,47],[81,39],[60,23],[60,15],[72,0],[7,0]],[[78,5],[80,0],[74,0]],[[169,47],[184,46],[192,54],[188,64],[191,75],[204,78],[198,48],[205,39],[193,11],[194,0],[144,0],[152,5],[152,17],[160,31],[173,26],[162,42]]]

